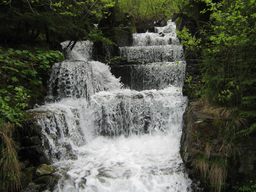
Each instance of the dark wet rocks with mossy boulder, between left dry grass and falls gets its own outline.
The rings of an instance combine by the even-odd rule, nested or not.
[[[21,185],[23,192],[53,191],[59,176],[49,166],[52,162],[45,154],[42,146],[41,127],[37,125],[36,114],[30,114],[29,119],[23,121],[23,128],[20,128],[20,143],[16,146],[21,168]]]

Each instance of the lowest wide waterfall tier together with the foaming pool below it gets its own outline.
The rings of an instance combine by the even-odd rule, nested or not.
[[[56,191],[189,191],[179,154],[186,105],[181,91],[168,87],[103,91],[90,105],[63,99],[37,109],[48,111],[39,123],[62,176]]]

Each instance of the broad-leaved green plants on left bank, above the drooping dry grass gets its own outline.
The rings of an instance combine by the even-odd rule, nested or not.
[[[0,124],[19,122],[31,98],[30,90],[38,89],[41,77],[49,72],[51,64],[64,59],[59,51],[37,51],[0,48]]]

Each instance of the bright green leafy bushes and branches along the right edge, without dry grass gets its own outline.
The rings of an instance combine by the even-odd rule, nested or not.
[[[238,116],[249,123],[249,128],[239,133],[248,135],[255,130],[251,120],[256,117],[256,2],[202,1],[212,12],[201,66],[204,97],[216,105],[235,106]]]

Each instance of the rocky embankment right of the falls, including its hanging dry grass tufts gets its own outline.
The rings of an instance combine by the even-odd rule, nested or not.
[[[226,182],[231,188],[236,182],[255,177],[256,135],[236,138],[228,143],[227,135],[222,132],[226,121],[199,112],[195,102],[191,102],[184,113],[180,153],[192,178],[202,179],[202,166],[206,167],[205,174],[210,178],[214,166],[222,167],[222,177],[227,176]]]

